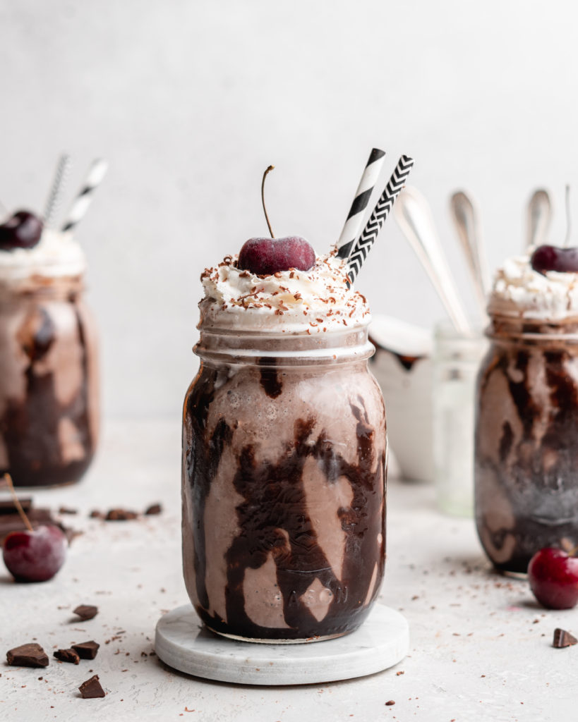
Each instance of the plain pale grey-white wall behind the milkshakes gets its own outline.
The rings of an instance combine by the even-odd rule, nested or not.
[[[476,8],[476,9],[474,9]],[[105,412],[178,414],[194,371],[199,274],[267,228],[337,238],[372,145],[415,157],[452,267],[463,186],[491,264],[521,248],[525,202],[564,183],[578,227],[578,6],[556,0],[0,0],[0,199],[43,208],[111,162],[79,227],[103,347]],[[385,180],[385,179],[384,179]],[[376,312],[443,316],[393,219],[358,287]]]

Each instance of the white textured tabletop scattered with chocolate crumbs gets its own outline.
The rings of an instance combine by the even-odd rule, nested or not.
[[[390,482],[388,558],[380,601],[410,624],[410,653],[392,669],[348,682],[249,687],[207,682],[152,655],[160,614],[187,601],[181,579],[178,421],[116,421],[75,487],[34,492],[36,506],[84,531],[48,583],[17,585],[0,570],[0,653],[32,640],[53,649],[94,639],[97,658],[46,669],[0,662],[0,720],[315,722],[576,719],[578,645],[551,646],[553,630],[578,632],[578,609],[546,612],[525,581],[491,573],[473,522],[441,516],[426,484]],[[2,497],[4,498],[4,494]],[[160,516],[103,522],[94,508]],[[77,604],[98,616],[74,622]],[[145,656],[146,655],[146,656]],[[99,674],[107,694],[82,700]],[[43,679],[38,679],[42,677]],[[386,705],[394,700],[394,705]]]

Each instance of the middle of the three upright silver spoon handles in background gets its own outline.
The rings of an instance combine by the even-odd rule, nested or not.
[[[486,260],[486,248],[480,232],[480,214],[470,196],[464,191],[457,191],[450,201],[452,217],[457,227],[457,235],[462,243],[467,265],[474,280],[475,294],[483,315],[486,314],[486,303],[490,290],[490,274]]]

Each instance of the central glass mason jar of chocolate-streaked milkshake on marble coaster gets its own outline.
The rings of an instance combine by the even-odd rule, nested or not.
[[[241,640],[352,632],[385,561],[385,412],[367,327],[316,336],[199,328],[182,459],[194,608]]]

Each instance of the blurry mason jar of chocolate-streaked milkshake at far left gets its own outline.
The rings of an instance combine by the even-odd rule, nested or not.
[[[77,482],[98,436],[95,323],[82,274],[0,279],[0,474]]]

